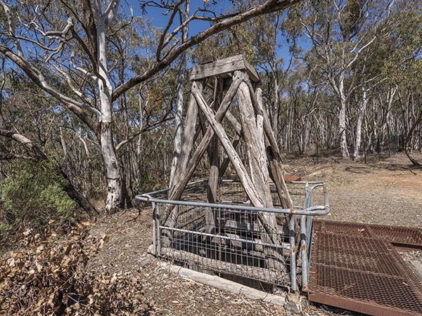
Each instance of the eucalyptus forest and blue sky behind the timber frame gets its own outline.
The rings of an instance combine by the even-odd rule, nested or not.
[[[218,2],[0,0],[2,241],[167,187],[209,55],[257,67],[283,154],[419,164],[422,1]]]

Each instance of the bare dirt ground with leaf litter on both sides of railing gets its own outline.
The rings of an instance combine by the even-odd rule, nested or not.
[[[422,169],[411,166],[404,154],[372,157],[368,164],[330,157],[286,159],[285,167],[304,180],[327,183],[331,206],[327,219],[422,228]],[[157,315],[289,315],[276,305],[181,279],[161,268],[157,259],[146,261],[152,236],[151,206],[98,218],[91,234],[107,234],[110,241],[89,268],[141,274]],[[336,312],[348,314],[321,305],[310,306],[303,314]]]

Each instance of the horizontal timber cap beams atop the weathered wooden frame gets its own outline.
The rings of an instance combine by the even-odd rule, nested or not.
[[[245,71],[250,80],[253,82],[259,82],[260,77],[250,63],[245,60],[243,55],[231,56],[229,58],[214,60],[212,62],[206,62],[201,65],[197,65],[191,68],[192,81],[205,79],[207,77],[222,76],[235,72],[236,70]]]

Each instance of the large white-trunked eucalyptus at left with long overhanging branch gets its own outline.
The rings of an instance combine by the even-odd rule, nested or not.
[[[230,14],[218,15],[213,4],[200,7],[178,24],[175,17],[186,0],[142,1],[141,6],[160,6],[167,11],[167,25],[140,72],[132,72],[115,84],[115,65],[110,61],[110,41],[119,29],[131,26],[120,19],[119,0],[6,1],[0,0],[0,53],[20,67],[39,88],[57,98],[66,110],[86,124],[96,135],[108,183],[106,210],[119,209],[122,202],[122,166],[113,134],[115,103],[131,88],[169,67],[186,49],[224,29],[250,18],[280,11],[298,0],[266,0],[244,6]],[[193,21],[210,23],[186,41],[178,39]],[[147,34],[141,34],[141,39]],[[135,67],[133,67],[135,68]],[[124,140],[123,140],[124,141]]]

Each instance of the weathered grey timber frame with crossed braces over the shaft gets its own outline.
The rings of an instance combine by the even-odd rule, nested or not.
[[[253,206],[273,207],[269,186],[271,178],[283,209],[293,209],[283,178],[279,147],[267,111],[262,104],[262,91],[256,88],[260,79],[254,67],[243,58],[243,55],[222,60],[209,58],[191,69],[191,81],[191,99],[184,119],[181,152],[174,180],[170,183],[169,199],[181,199],[200,159],[207,152],[210,161],[208,202],[217,203],[219,181],[231,163]],[[237,105],[238,114],[235,115],[235,111],[231,112],[231,105]],[[236,132],[231,139],[224,130],[224,120],[228,121]],[[200,133],[202,138],[199,137]],[[243,162],[236,152],[236,146],[242,140],[248,153],[247,162]],[[222,155],[218,152],[221,147],[225,154],[222,161],[220,161]],[[167,218],[162,220],[172,226],[177,216],[178,211],[174,207]],[[215,216],[211,210],[205,220],[207,232],[213,232]],[[293,216],[289,222],[289,225],[295,225]],[[263,241],[277,244],[279,241],[271,240],[270,237],[273,235],[271,232],[276,230],[275,215],[262,212],[259,214],[259,223]],[[279,266],[277,258],[281,254],[276,253],[274,249],[267,249],[267,256],[271,258],[270,265]]]

